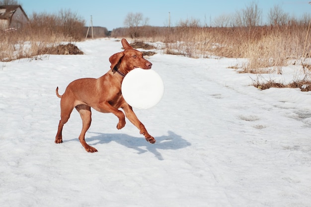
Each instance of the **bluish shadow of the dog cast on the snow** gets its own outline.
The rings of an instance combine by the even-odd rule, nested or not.
[[[191,143],[187,140],[183,139],[181,136],[176,135],[175,133],[168,131],[167,136],[161,136],[161,137],[155,137],[156,143],[151,144],[146,141],[144,137],[132,137],[126,134],[104,134],[104,133],[94,133],[90,132],[92,134],[97,134],[97,136],[93,136],[90,138],[85,138],[86,142],[91,142],[90,145],[94,146],[97,144],[105,144],[109,143],[111,141],[115,141],[119,144],[122,144],[128,148],[132,148],[138,151],[138,153],[145,153],[145,152],[152,152],[159,160],[163,160],[163,157],[160,152],[158,152],[158,149],[181,149],[187,146],[190,146]],[[77,140],[71,139],[67,141]],[[94,142],[95,141],[95,142]],[[65,141],[64,141],[65,142]]]

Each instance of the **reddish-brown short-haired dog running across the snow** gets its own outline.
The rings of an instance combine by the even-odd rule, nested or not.
[[[76,108],[82,119],[82,131],[79,140],[88,152],[97,152],[97,149],[85,142],[84,136],[91,124],[91,107],[102,113],[113,113],[119,118],[117,129],[125,126],[125,116],[143,134],[147,141],[155,143],[156,140],[147,132],[145,126],[138,120],[132,107],[124,100],[121,93],[121,83],[124,76],[135,68],[151,69],[152,64],[144,59],[143,54],[130,46],[126,39],[122,39],[123,52],[116,53],[109,58],[111,70],[103,76],[95,78],[81,78],[71,82],[61,98],[61,120],[55,143],[62,143],[62,130]],[[124,113],[119,108],[122,108]]]

